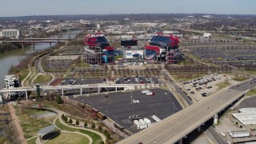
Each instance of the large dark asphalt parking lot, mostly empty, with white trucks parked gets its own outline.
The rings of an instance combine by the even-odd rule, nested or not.
[[[146,94],[142,94],[142,90],[138,90],[98,94],[90,97],[70,97],[70,99],[93,106],[125,129],[136,133],[138,130],[129,118],[130,116],[138,115],[139,118],[149,118],[151,122],[154,122],[151,118],[152,115],[164,119],[182,110],[182,106],[170,91],[162,89],[151,89],[150,91],[154,92],[154,95],[146,96]],[[135,104],[133,100],[138,100],[139,103]]]

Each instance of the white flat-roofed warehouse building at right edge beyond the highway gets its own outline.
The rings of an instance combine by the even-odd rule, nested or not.
[[[231,114],[232,122],[246,130],[256,129],[256,108],[239,109],[239,113]]]

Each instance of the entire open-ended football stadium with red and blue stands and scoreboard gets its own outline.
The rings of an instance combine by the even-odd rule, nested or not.
[[[166,62],[168,64],[178,63],[182,60],[179,50],[178,37],[170,34],[158,35],[151,38],[145,49],[132,50],[130,47],[137,45],[137,40],[122,42],[126,50],[114,50],[103,34],[90,34],[85,38],[85,51],[82,55],[83,61],[91,65],[100,65],[110,62]],[[122,58],[116,56],[122,55]]]

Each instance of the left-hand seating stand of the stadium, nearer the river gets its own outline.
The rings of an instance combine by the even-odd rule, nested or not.
[[[108,61],[108,51],[114,50],[103,34],[90,34],[85,38],[85,51],[82,54],[84,62],[90,65],[100,65]],[[104,57],[103,57],[104,56]],[[103,61],[104,60],[104,61]]]

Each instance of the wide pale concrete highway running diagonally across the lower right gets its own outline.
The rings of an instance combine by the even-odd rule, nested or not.
[[[200,102],[186,107],[184,110],[163,119],[153,126],[146,128],[118,143],[175,143],[190,134],[192,130],[201,126],[204,122],[214,117],[219,111],[241,98],[253,80],[242,82],[238,86],[218,91]]]

